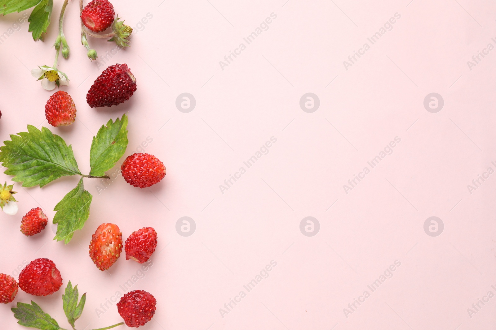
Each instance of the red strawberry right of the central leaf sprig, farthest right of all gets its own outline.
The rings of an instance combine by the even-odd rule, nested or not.
[[[148,153],[133,153],[127,156],[121,171],[129,185],[139,188],[153,186],[165,177],[164,163]]]

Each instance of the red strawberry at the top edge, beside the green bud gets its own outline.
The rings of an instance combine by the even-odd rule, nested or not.
[[[93,0],[81,12],[84,26],[93,32],[101,32],[114,22],[114,6],[107,0]]]

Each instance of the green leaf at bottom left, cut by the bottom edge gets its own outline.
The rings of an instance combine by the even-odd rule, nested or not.
[[[43,310],[34,301],[30,304],[22,302],[17,303],[17,308],[10,309],[14,317],[19,320],[18,324],[24,327],[36,328],[41,330],[59,330],[59,324],[52,319],[50,315]]]

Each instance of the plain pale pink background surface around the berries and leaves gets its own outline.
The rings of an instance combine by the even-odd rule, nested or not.
[[[100,315],[96,308],[127,291],[120,285],[136,274],[141,278],[131,289],[158,300],[142,329],[494,329],[495,297],[471,316],[467,309],[496,293],[496,175],[472,193],[467,185],[496,169],[496,50],[472,70],[467,61],[489,43],[496,46],[496,4],[285,1],[115,0],[116,12],[137,32],[132,47],[105,59],[115,45],[90,39],[100,54],[90,63],[72,0],[65,17],[71,54],[59,68],[70,79],[63,90],[72,95],[77,118],[52,131],[72,144],[88,173],[92,136],[128,112],[126,155],[153,139],[146,152],[165,163],[167,176],[150,189],[119,176],[100,194],[99,180],[85,179],[94,196],[91,215],[66,246],[52,240],[50,226],[23,236],[20,219],[38,206],[53,219],[55,204],[78,178],[43,189],[16,185],[19,213],[0,214],[0,272],[16,275],[35,258],[54,260],[63,287],[71,280],[88,293],[79,330],[120,322],[115,303]],[[29,71],[52,64],[62,5],[55,2],[45,43],[33,42],[24,23],[0,45],[1,141],[26,124],[49,125],[44,105],[52,93]],[[277,18],[268,30],[222,70],[219,61],[271,13]],[[401,18],[391,31],[346,70],[343,61],[370,44],[367,38],[395,13]],[[147,14],[152,18],[144,24]],[[20,16],[3,17],[0,33]],[[128,64],[137,92],[122,105],[89,108],[92,82],[115,63]],[[185,92],[196,99],[189,113],[175,105]],[[313,113],[299,105],[309,92],[320,99]],[[430,93],[444,99],[437,113],[424,108]],[[271,137],[277,142],[269,152],[222,193],[219,185]],[[401,142],[392,154],[345,193],[343,185],[395,137]],[[176,231],[184,216],[196,223],[188,237]],[[315,236],[300,232],[307,216],[320,224]],[[436,237],[424,232],[431,216],[444,223]],[[119,225],[124,239],[144,226],[157,230],[147,272],[124,257],[107,272],[93,265],[87,246],[104,222]],[[243,285],[271,260],[277,266],[247,292]],[[367,285],[396,260],[401,266],[392,277],[346,317],[343,309],[371,292]],[[222,316],[219,309],[241,290],[246,297]],[[61,295],[19,292],[15,302],[33,299],[67,328]],[[23,329],[13,305],[0,306],[3,327]]]

